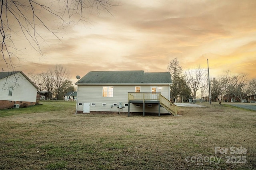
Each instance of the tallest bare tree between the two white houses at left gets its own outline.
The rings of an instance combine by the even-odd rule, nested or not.
[[[69,78],[69,73],[66,68],[59,64],[56,64],[54,68],[50,68],[49,73],[56,86],[56,98],[57,100],[62,100],[62,96],[59,96],[59,94],[61,92],[62,85]]]

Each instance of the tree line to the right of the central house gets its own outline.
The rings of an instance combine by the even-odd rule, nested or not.
[[[200,94],[202,102],[208,102],[209,83],[208,71],[198,66],[194,69],[182,70],[177,58],[170,61],[167,71],[172,76],[170,87],[171,98],[175,102],[188,102],[188,99],[196,99]],[[232,74],[230,70],[224,71],[220,77],[210,78],[211,101],[222,101],[223,96],[242,102],[243,97],[256,94],[256,78],[248,80],[246,74]],[[230,101],[227,101],[230,102]]]

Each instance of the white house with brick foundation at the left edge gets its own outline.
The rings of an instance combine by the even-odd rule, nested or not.
[[[36,104],[37,87],[21,71],[0,72],[0,109]]]

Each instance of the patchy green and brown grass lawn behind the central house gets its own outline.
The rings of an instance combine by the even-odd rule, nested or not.
[[[0,110],[0,170],[256,169],[255,111],[204,104],[127,117],[41,104]]]

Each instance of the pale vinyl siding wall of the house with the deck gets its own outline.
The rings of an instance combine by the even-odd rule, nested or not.
[[[151,92],[151,86],[154,85],[141,85],[140,92]],[[169,86],[168,85],[158,85],[157,90],[162,94],[162,96],[169,98]],[[95,103],[94,107],[90,107],[90,111],[123,111],[128,112],[128,92],[134,92],[134,85],[115,85],[112,86],[114,89],[113,97],[103,97],[102,96],[102,85],[79,85],[78,86],[78,103]],[[104,86],[107,87],[107,86]],[[122,102],[122,106],[124,108],[120,109],[117,106],[113,106],[113,104],[118,104]],[[102,107],[102,103],[106,103],[106,106]],[[113,107],[111,107],[113,106]],[[152,104],[152,107],[147,107],[145,104],[146,112],[158,113],[158,104]],[[83,107],[78,106],[78,111],[82,111]],[[143,104],[140,104],[140,107],[136,107],[136,104],[130,103],[130,112],[142,112]],[[163,107],[160,108],[161,113],[168,113],[166,109]]]

